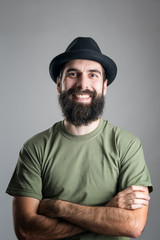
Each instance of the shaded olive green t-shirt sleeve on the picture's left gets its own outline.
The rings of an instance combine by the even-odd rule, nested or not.
[[[23,146],[6,193],[42,199],[41,165],[35,149]]]

